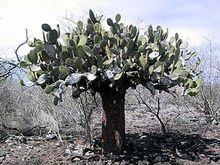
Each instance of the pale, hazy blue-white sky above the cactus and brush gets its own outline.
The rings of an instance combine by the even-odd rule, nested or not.
[[[0,0],[0,57],[13,58],[14,49],[25,40],[41,37],[41,24],[63,25],[65,16],[85,18],[88,10],[112,17],[122,15],[126,23],[141,28],[161,25],[198,47],[205,38],[220,45],[219,0]],[[27,47],[20,49],[25,55]]]

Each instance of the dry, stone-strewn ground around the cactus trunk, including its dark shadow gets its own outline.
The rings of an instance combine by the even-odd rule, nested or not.
[[[219,124],[208,124],[202,114],[189,110],[165,110],[161,115],[167,123],[166,135],[160,133],[160,125],[151,114],[141,110],[127,112],[127,146],[120,156],[99,154],[99,128],[94,131],[94,145],[89,148],[82,132],[71,130],[70,126],[68,131],[62,128],[63,143],[52,134],[6,137],[0,143],[0,162],[21,165],[220,164]]]

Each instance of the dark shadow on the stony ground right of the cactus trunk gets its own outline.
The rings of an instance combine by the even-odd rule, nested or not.
[[[123,160],[130,163],[147,161],[150,164],[175,164],[179,159],[196,162],[206,159],[206,163],[220,161],[220,140],[206,139],[200,135],[136,133],[128,134],[126,143],[127,153]]]

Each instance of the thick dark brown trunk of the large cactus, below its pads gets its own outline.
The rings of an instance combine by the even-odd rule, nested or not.
[[[103,154],[122,154],[125,145],[125,90],[105,88],[101,92]]]

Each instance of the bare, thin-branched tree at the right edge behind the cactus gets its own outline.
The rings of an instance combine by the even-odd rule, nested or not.
[[[202,74],[203,84],[197,98],[193,99],[193,105],[201,109],[208,123],[220,122],[220,84],[219,84],[219,58],[218,46],[212,39],[206,39],[200,48],[202,64],[199,69]],[[192,101],[192,100],[191,100]]]

